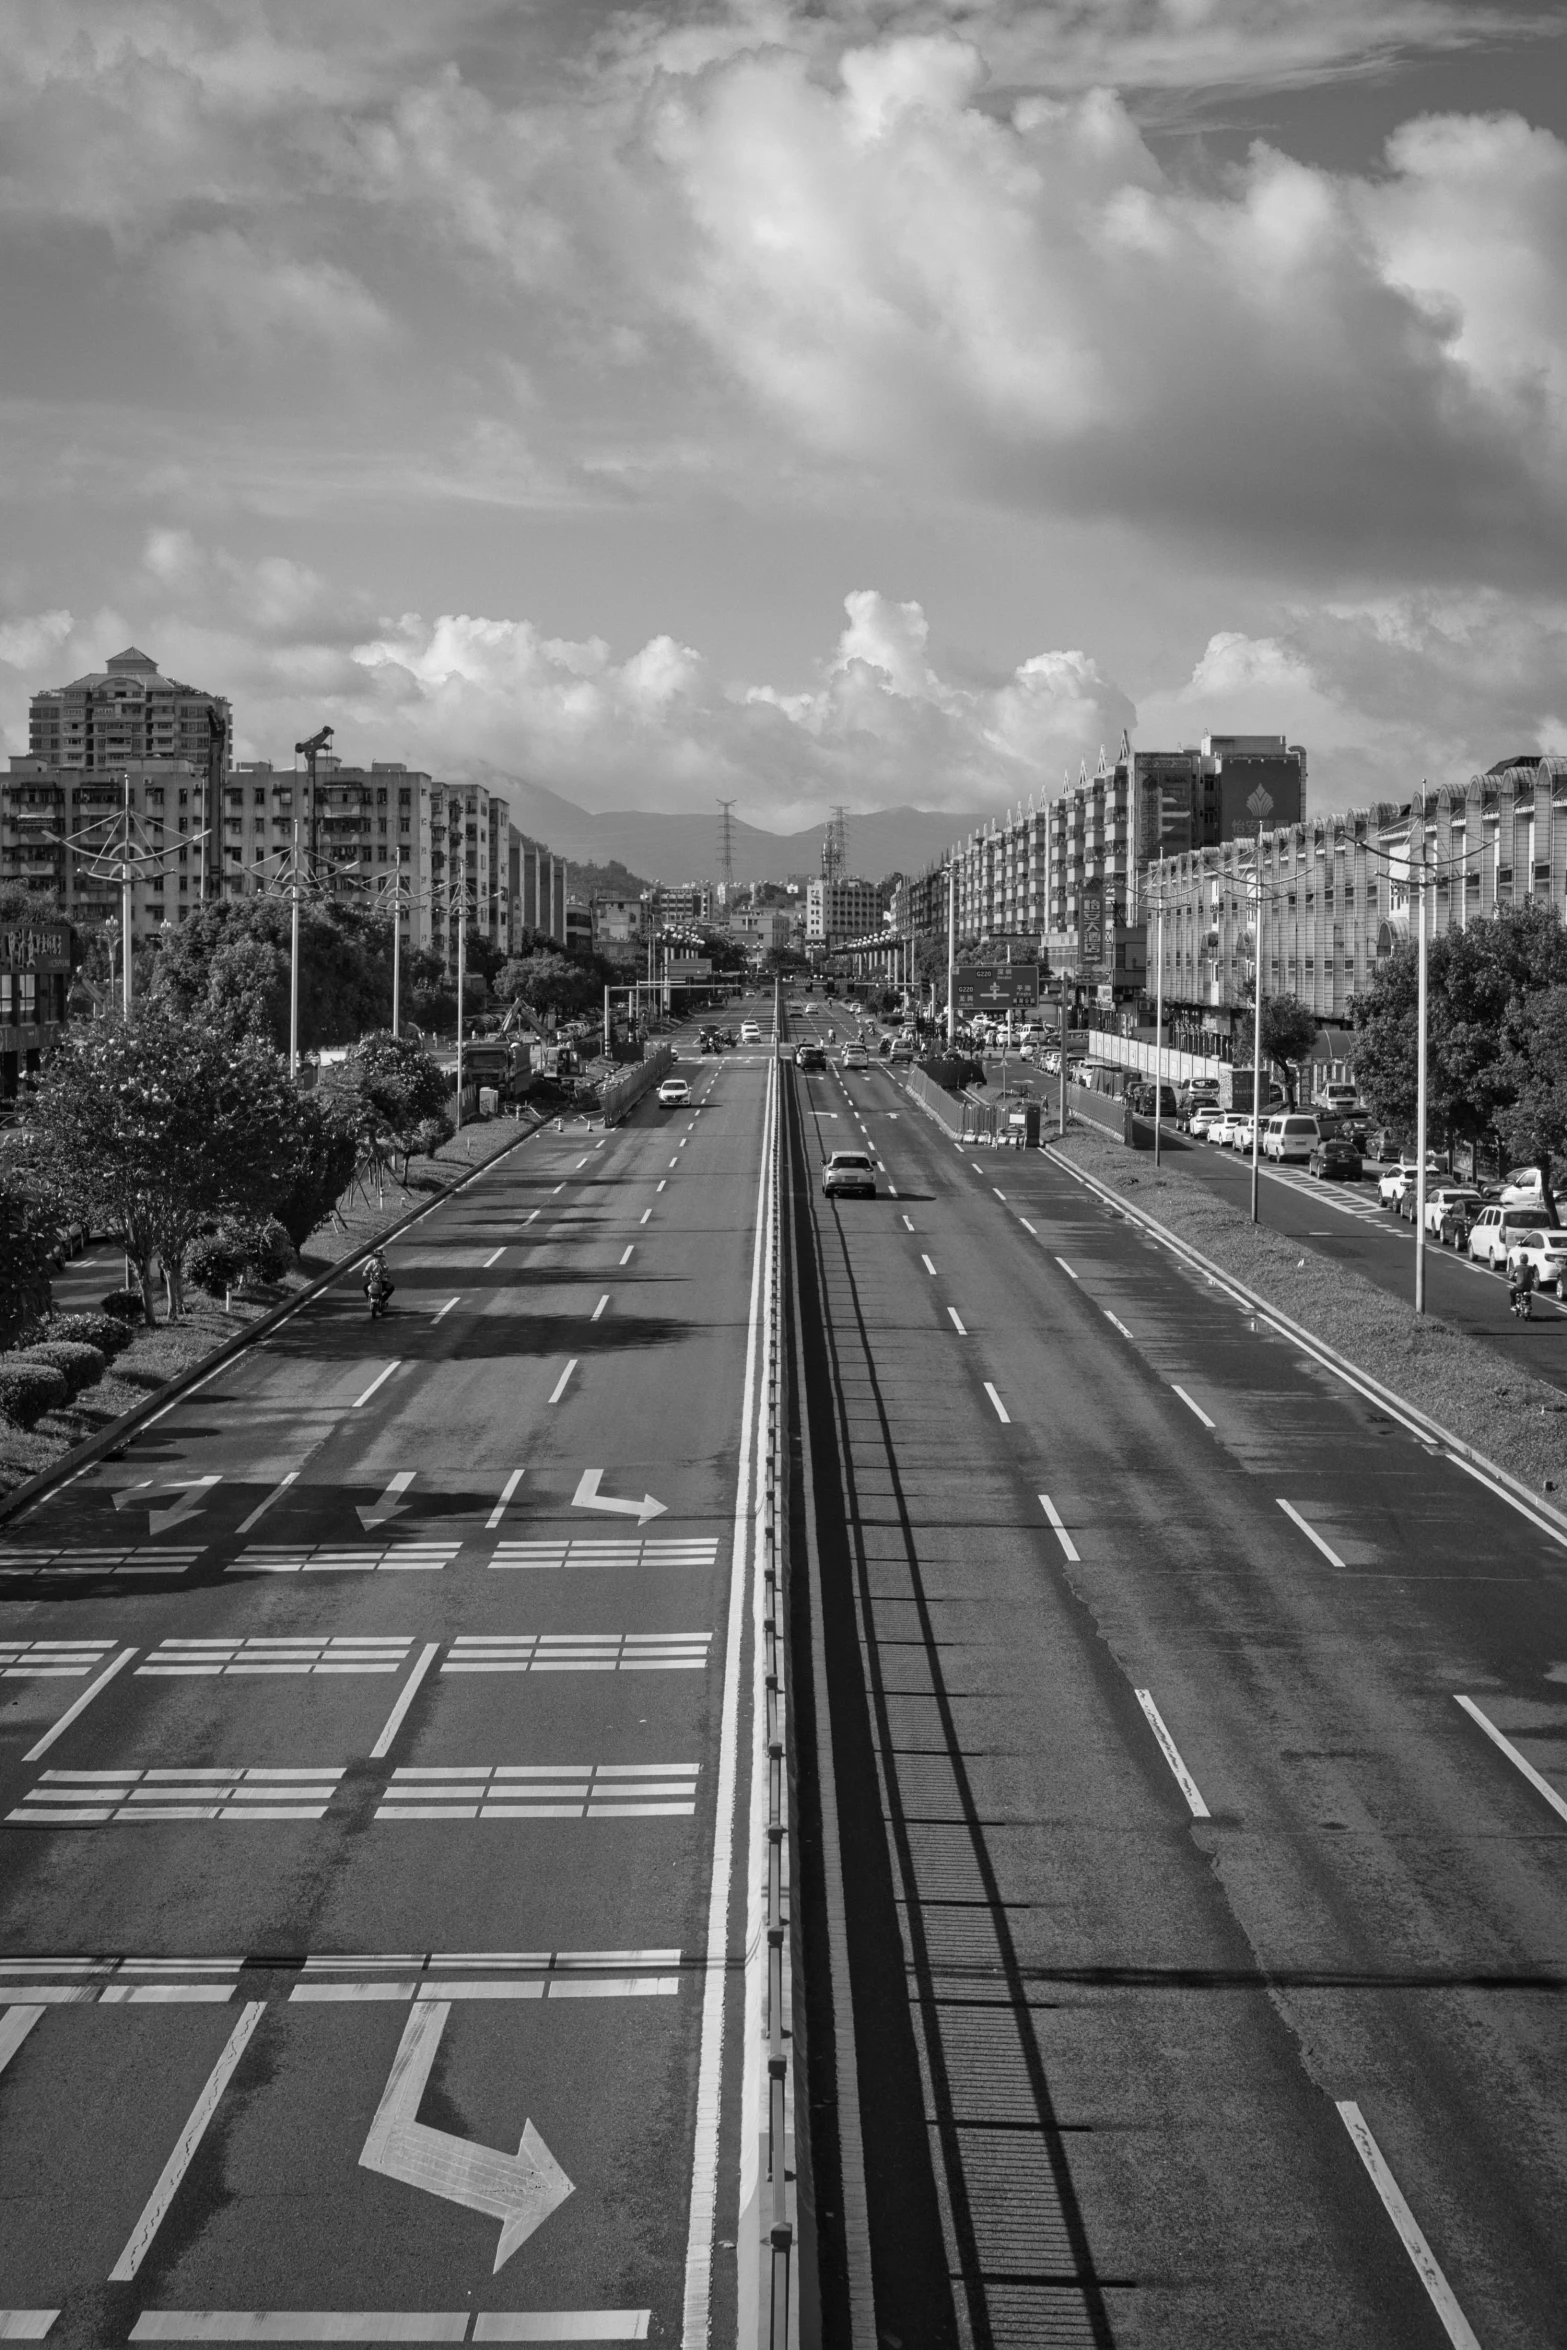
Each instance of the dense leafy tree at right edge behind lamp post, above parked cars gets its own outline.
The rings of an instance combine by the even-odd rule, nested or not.
[[[1567,985],[1567,928],[1529,900],[1428,947],[1426,1116],[1435,1144],[1480,1142],[1513,1104],[1508,1034],[1544,989]],[[1414,1133],[1419,968],[1400,942],[1353,1003],[1356,1079],[1370,1109]]]

